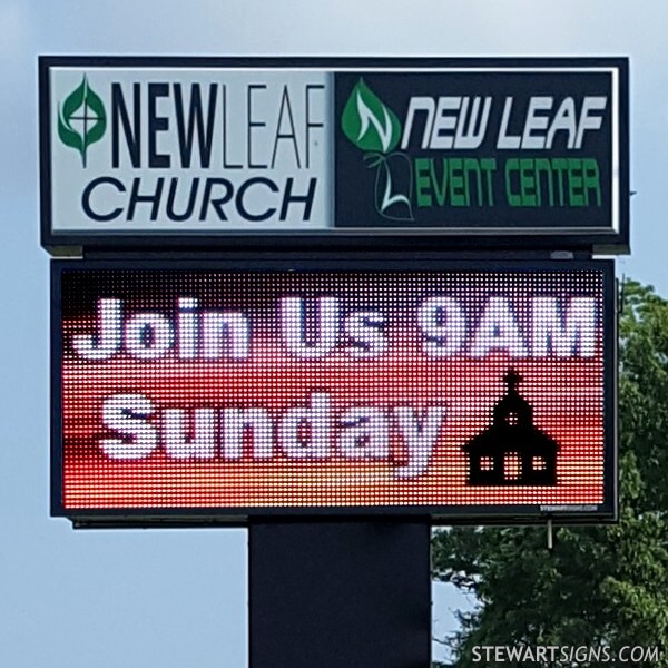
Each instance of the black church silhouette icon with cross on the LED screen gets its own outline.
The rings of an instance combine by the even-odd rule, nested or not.
[[[559,444],[533,424],[533,409],[518,392],[522,380],[509,369],[508,390],[492,412],[492,425],[465,445],[469,484],[556,485]]]

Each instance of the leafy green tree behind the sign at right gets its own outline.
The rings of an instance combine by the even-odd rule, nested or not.
[[[436,533],[434,578],[478,601],[448,639],[452,666],[480,667],[484,645],[642,645],[668,667],[668,302],[633,282],[621,296],[619,523],[559,528],[552,550],[544,527]],[[610,665],[559,659],[533,665]]]

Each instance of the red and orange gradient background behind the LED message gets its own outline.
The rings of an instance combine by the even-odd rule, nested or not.
[[[63,269],[61,313],[59,514],[97,510],[217,511],[254,509],[392,507],[421,508],[448,515],[466,507],[602,504],[606,499],[603,272],[589,271],[440,271],[440,272],[222,272],[181,269]],[[430,358],[418,325],[420,303],[435,294],[461,301],[472,328],[492,295],[511,299],[522,332],[530,332],[529,299],[573,296],[597,299],[597,352],[593,357],[511,358],[505,351],[474,360],[462,354]],[[337,296],[345,312],[384,314],[389,345],[375,358],[360,360],[342,347],[322,360],[299,360],[281,341],[278,299]],[[179,297],[197,297],[204,310],[238,310],[252,322],[247,360],[180,360],[171,351],[157,361],[121,352],[104,362],[80,358],[72,336],[96,331],[97,302],[124,299],[127,316],[158,312],[176,321]],[[345,342],[345,336],[342,338]],[[490,426],[493,405],[505,392],[509,366],[522,376],[520,394],[533,406],[534,424],[554,439],[553,487],[471,487],[462,446]],[[114,461],[99,441],[115,436],[102,424],[106,397],[140,393],[159,413],[166,407],[265,407],[276,418],[306,406],[314,391],[332,396],[333,415],[352,406],[391,411],[412,406],[418,414],[445,405],[446,415],[426,471],[396,479],[406,462],[399,432],[391,432],[390,461],[351,461],[335,452],[324,461],[289,460],[278,443],[271,461],[255,461],[248,448],[238,461],[174,460],[163,446],[139,461]],[[159,424],[159,416],[155,423]],[[334,429],[336,433],[336,429]],[[57,479],[58,479],[57,478]],[[440,509],[440,510],[439,510]],[[483,511],[484,512],[484,511]]]

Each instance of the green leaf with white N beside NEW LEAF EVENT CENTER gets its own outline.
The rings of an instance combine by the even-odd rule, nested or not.
[[[399,118],[360,79],[353,88],[341,117],[344,135],[361,150],[387,155],[399,144]]]

